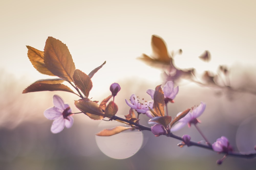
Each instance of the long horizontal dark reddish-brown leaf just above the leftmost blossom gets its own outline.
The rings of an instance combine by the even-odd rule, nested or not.
[[[29,93],[35,91],[68,91],[74,93],[68,86],[64,84],[46,84],[46,83],[33,83],[28,86],[22,93]],[[75,93],[74,93],[75,94]]]

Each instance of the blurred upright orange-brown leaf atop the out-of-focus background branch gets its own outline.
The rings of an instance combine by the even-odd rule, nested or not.
[[[152,35],[151,46],[158,61],[170,63],[171,58],[168,56],[167,48],[162,38]]]

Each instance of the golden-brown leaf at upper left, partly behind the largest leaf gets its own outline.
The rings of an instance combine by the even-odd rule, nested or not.
[[[35,67],[35,69],[42,74],[54,75],[45,66],[44,51],[40,51],[28,45],[26,47],[28,48],[28,58],[32,65]]]

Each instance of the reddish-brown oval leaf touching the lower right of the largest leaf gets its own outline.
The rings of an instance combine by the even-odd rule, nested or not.
[[[92,81],[90,77],[81,70],[76,69],[74,71],[73,80],[82,93],[88,97],[92,89]]]

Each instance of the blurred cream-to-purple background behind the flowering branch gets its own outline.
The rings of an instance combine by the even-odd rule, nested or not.
[[[168,105],[170,115],[203,101],[206,110],[199,127],[208,140],[213,143],[223,135],[234,150],[251,152],[256,145],[254,1],[11,0],[0,4],[0,169],[255,169],[255,159],[228,157],[218,166],[221,154],[179,148],[178,140],[144,131],[143,141],[133,145],[140,148],[137,153],[112,159],[97,146],[95,133],[103,129],[101,121],[78,114],[72,128],[50,132],[52,121],[43,112],[53,106],[52,96],[62,96],[74,112],[77,96],[59,91],[22,94],[36,80],[49,78],[33,68],[26,45],[43,51],[47,37],[53,36],[68,46],[76,68],[87,74],[106,60],[92,78],[90,97],[101,101],[110,95],[109,86],[119,83],[115,101],[118,114],[125,115],[129,107],[124,99],[135,93],[150,100],[146,90],[165,81],[161,69],[137,60],[142,53],[152,54],[151,36],[158,35],[169,52],[182,49],[182,55],[175,56],[180,69],[217,72],[219,65],[225,65],[229,85],[243,89],[180,81],[175,103]],[[210,62],[198,58],[204,50],[210,51]],[[141,116],[140,123],[147,125],[147,120]],[[193,127],[176,134],[203,140]]]

